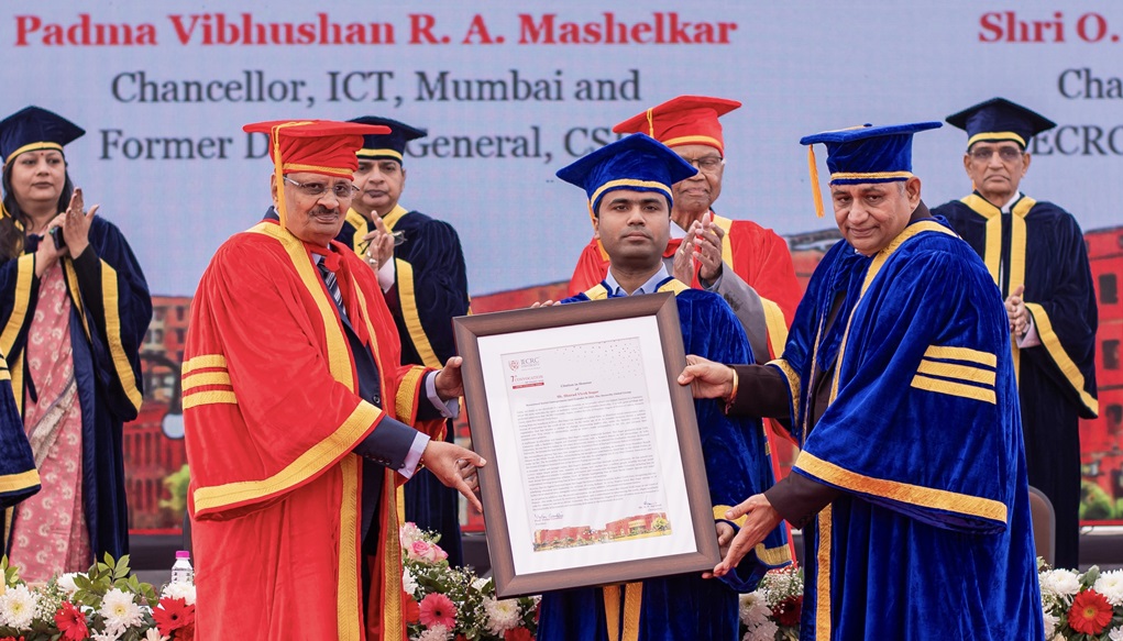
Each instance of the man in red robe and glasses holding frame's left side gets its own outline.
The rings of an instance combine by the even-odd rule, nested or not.
[[[396,485],[423,464],[478,506],[482,459],[439,438],[459,359],[400,366],[374,274],[332,241],[385,128],[245,129],[270,134],[274,208],[214,254],[183,364],[198,638],[403,641]]]

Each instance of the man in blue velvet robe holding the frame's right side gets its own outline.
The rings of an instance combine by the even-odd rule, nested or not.
[[[803,528],[804,640],[1043,639],[1006,312],[912,174],[912,134],[939,126],[804,138],[827,144],[843,240],[779,359],[679,377],[802,443],[793,474],[727,514],[747,521],[714,573],[780,519]]]

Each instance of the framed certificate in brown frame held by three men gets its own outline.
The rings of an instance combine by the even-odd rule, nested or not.
[[[673,295],[454,324],[497,596],[718,564]]]

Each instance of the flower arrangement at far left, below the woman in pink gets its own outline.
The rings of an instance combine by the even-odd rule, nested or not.
[[[195,587],[152,585],[130,576],[129,557],[106,555],[85,574],[31,587],[0,559],[0,641],[191,641]]]

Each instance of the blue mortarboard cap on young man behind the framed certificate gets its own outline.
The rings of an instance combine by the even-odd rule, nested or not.
[[[670,205],[670,185],[696,173],[663,143],[647,134],[632,134],[577,158],[558,170],[557,176],[585,190],[595,218],[601,199],[613,190],[658,192]]]

